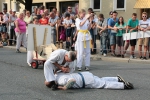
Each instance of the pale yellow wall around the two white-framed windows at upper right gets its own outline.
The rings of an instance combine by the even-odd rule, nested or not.
[[[105,18],[109,18],[109,12],[114,10],[114,0],[102,0],[101,11],[95,11],[96,14],[104,14]],[[117,11],[118,17],[123,16],[125,21],[127,21],[132,13],[137,13],[138,19],[140,18],[140,10],[133,9],[137,0],[126,0],[126,10]],[[79,9],[87,10],[90,7],[90,0],[79,0]]]

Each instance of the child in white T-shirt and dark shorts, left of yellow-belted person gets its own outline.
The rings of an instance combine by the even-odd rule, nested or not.
[[[64,19],[64,26],[66,29],[66,49],[68,50],[70,47],[71,25],[72,25],[72,19],[70,18],[70,14],[66,13],[66,16]]]

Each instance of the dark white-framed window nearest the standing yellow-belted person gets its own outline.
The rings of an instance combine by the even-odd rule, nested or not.
[[[101,1],[102,0],[91,0],[91,8],[93,8],[94,11],[100,11]]]

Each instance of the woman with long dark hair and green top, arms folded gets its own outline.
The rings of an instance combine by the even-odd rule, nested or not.
[[[115,30],[117,31],[116,34],[116,43],[118,45],[119,54],[117,57],[124,58],[124,41],[123,41],[123,33],[126,31],[126,24],[124,23],[123,17],[119,17],[118,23],[114,26]]]

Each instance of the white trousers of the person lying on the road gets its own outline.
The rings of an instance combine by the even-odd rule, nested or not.
[[[104,89],[124,89],[124,83],[118,82],[117,77],[103,77],[94,76],[95,82],[92,84],[93,88]]]

